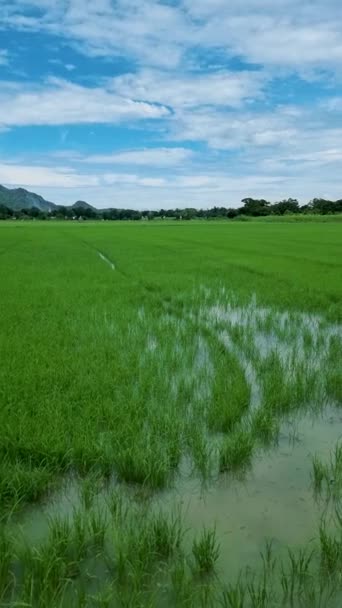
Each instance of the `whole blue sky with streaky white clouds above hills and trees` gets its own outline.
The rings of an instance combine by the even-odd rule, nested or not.
[[[98,207],[342,198],[340,0],[0,0],[0,183]]]

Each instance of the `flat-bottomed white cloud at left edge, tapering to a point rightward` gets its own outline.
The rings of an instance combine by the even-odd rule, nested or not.
[[[167,116],[161,106],[120,97],[100,87],[50,79],[45,85],[3,86],[0,126],[119,123]]]

